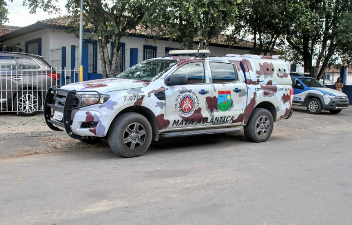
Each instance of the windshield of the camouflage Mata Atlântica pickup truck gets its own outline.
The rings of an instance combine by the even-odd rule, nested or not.
[[[117,78],[127,78],[143,81],[154,81],[176,65],[178,60],[152,59],[141,62],[121,74]]]

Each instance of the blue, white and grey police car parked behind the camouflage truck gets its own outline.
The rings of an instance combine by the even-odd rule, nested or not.
[[[318,114],[322,110],[336,114],[346,109],[349,99],[346,94],[327,88],[309,73],[291,72],[293,86],[293,104],[306,106],[311,114]]]

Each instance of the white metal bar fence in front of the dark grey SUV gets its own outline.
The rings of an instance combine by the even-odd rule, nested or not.
[[[0,112],[34,114],[43,110],[43,101],[50,87],[75,80],[78,70],[0,68]],[[72,79],[73,78],[73,79]]]

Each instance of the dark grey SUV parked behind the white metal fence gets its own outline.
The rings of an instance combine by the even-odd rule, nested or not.
[[[44,57],[0,52],[0,112],[30,116],[41,109],[46,91],[59,86],[59,74]]]

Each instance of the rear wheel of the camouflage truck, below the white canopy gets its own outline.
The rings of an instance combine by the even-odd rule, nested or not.
[[[256,108],[243,131],[249,141],[265,142],[272,135],[273,127],[272,113],[263,108]]]

